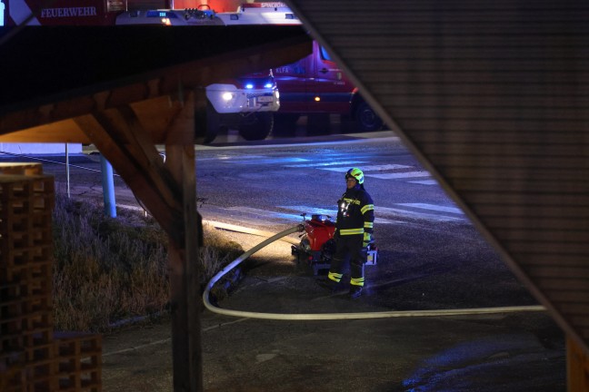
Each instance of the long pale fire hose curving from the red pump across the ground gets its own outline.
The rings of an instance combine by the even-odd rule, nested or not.
[[[236,230],[238,228],[235,225],[227,225],[222,223],[216,226],[214,221],[208,221],[211,225],[220,229]],[[225,227],[224,227],[225,226]],[[228,227],[231,226],[231,229]],[[246,228],[243,228],[246,229]],[[248,257],[253,255],[256,251],[261,250],[265,246],[271,244],[275,240],[281,240],[283,237],[292,234],[296,231],[302,231],[303,225],[296,225],[290,229],[284,230],[275,234],[267,240],[264,240],[257,244],[251,250],[247,250],[244,254],[239,256],[237,259],[232,261],[223,270],[220,270],[206,285],[205,292],[203,293],[203,302],[205,303],[206,309],[212,312],[225,315],[234,316],[239,318],[248,319],[275,319],[275,320],[330,320],[330,319],[387,319],[387,318],[403,318],[403,317],[440,317],[440,316],[468,316],[468,315],[482,315],[482,314],[495,314],[495,313],[510,313],[510,312],[538,312],[544,311],[543,306],[516,306],[516,307],[499,307],[499,308],[476,308],[476,309],[440,309],[440,310],[393,310],[393,311],[382,311],[382,312],[364,312],[364,313],[259,313],[244,310],[232,310],[222,309],[215,307],[211,304],[209,296],[211,289],[215,286],[215,283],[223,278],[227,272],[233,270],[237,265],[242,263]],[[252,230],[246,229],[243,232],[253,233]],[[256,233],[256,235],[259,235]]]

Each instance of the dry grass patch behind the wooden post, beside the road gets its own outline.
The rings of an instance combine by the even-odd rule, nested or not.
[[[122,210],[109,218],[102,204],[57,194],[53,218],[55,329],[106,332],[122,319],[167,314],[167,236],[152,217]],[[244,251],[214,228],[204,238],[203,286]]]

